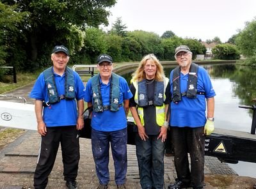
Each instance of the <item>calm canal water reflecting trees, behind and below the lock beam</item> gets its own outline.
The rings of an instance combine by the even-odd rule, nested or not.
[[[241,109],[239,105],[252,105],[256,98],[256,70],[235,64],[205,65],[216,92],[214,126],[241,132],[251,131],[252,110]],[[169,77],[173,68],[165,68]],[[124,75],[131,79],[131,73]],[[256,147],[256,146],[255,146]],[[256,158],[256,157],[255,157]],[[239,162],[228,165],[239,176],[256,178],[256,163]]]

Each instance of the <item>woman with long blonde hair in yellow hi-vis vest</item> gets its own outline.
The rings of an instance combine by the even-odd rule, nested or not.
[[[129,105],[138,128],[135,142],[141,188],[163,189],[170,82],[154,54],[143,57],[132,76]]]

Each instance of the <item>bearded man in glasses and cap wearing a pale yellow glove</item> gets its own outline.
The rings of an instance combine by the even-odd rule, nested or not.
[[[169,125],[177,180],[168,189],[191,186],[201,189],[204,188],[205,135],[210,135],[214,130],[216,94],[207,71],[192,63],[192,52],[188,46],[177,47],[175,59],[179,66],[170,73],[172,102]]]

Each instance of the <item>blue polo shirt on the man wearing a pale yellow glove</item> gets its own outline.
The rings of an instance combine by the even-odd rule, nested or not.
[[[172,83],[173,71],[170,73],[170,91],[173,94]],[[189,74],[183,75],[180,72],[180,92],[186,92],[188,86]],[[182,96],[182,100],[178,103],[171,102],[171,126],[189,126],[199,127],[204,126],[206,122],[205,110],[206,99],[215,96],[214,89],[212,87],[211,79],[204,68],[198,67],[198,81],[197,91],[205,92],[205,95],[197,94],[196,98],[187,98]]]

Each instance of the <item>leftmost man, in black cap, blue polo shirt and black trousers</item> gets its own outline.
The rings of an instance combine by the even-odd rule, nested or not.
[[[53,66],[39,75],[30,93],[35,98],[37,129],[41,135],[34,186],[36,189],[47,186],[61,143],[64,179],[69,189],[76,189],[80,158],[77,130],[84,126],[84,84],[67,66],[67,47],[54,47],[51,60]]]

